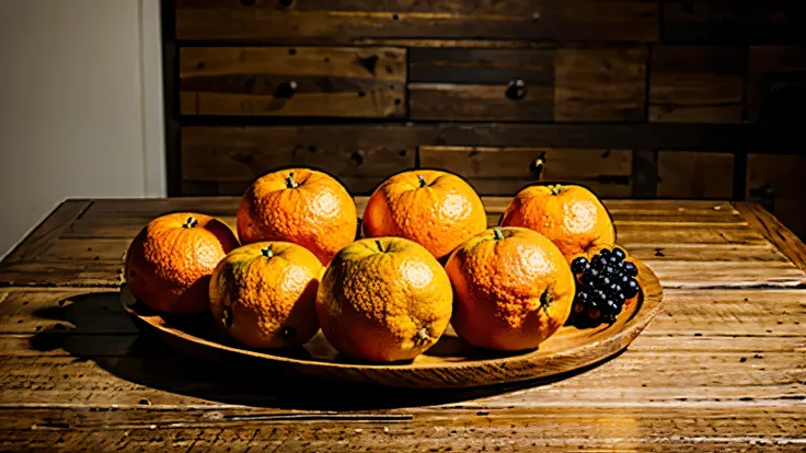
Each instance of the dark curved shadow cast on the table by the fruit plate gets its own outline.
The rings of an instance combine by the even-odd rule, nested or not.
[[[72,297],[35,315],[58,321],[31,339],[34,349],[64,349],[110,373],[149,387],[220,403],[307,410],[369,410],[451,404],[545,385],[602,362],[550,380],[472,390],[400,390],[369,384],[280,376],[254,368],[206,362],[140,335],[117,292]],[[61,324],[70,323],[74,328]],[[157,402],[154,402],[157,403]]]

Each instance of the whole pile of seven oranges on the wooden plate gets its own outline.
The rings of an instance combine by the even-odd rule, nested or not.
[[[153,310],[211,313],[250,348],[303,345],[321,328],[347,357],[393,362],[449,323],[475,347],[537,348],[572,314],[583,280],[571,263],[615,241],[584,187],[528,186],[487,229],[475,190],[434,170],[384,181],[361,219],[357,234],[353,197],[332,176],[277,171],[243,195],[238,236],[202,213],[151,221],[127,253],[127,284]]]

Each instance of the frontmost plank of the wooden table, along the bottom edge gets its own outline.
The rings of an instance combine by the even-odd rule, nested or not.
[[[701,452],[780,451],[802,449],[798,431],[803,414],[786,409],[681,408],[596,410],[556,408],[551,414],[468,414],[419,416],[404,423],[393,418],[226,421],[238,417],[222,411],[224,420],[205,420],[204,413],[160,414],[157,423],[116,421],[123,415],[89,410],[20,410],[21,418],[36,420],[42,429],[20,427],[4,433],[3,450],[56,446],[92,451],[117,449],[151,451],[591,451]],[[145,413],[145,410],[143,410]],[[172,423],[169,417],[177,417]],[[108,425],[102,417],[111,419]],[[185,421],[195,417],[194,421]],[[9,423],[18,426],[8,417]],[[164,420],[164,421],[163,421]],[[3,420],[5,421],[5,420]],[[118,428],[119,427],[119,428]],[[562,434],[561,434],[562,433]],[[448,446],[449,445],[449,446]]]

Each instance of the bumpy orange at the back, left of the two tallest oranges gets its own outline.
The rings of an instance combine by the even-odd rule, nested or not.
[[[323,265],[353,242],[357,229],[353,197],[336,179],[315,170],[288,169],[262,176],[238,207],[241,242],[292,242]]]

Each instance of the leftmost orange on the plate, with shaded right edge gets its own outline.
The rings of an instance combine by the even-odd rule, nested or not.
[[[194,212],[162,216],[131,242],[126,253],[126,283],[135,298],[153,310],[202,313],[210,307],[210,275],[235,247],[232,230],[218,219]]]

